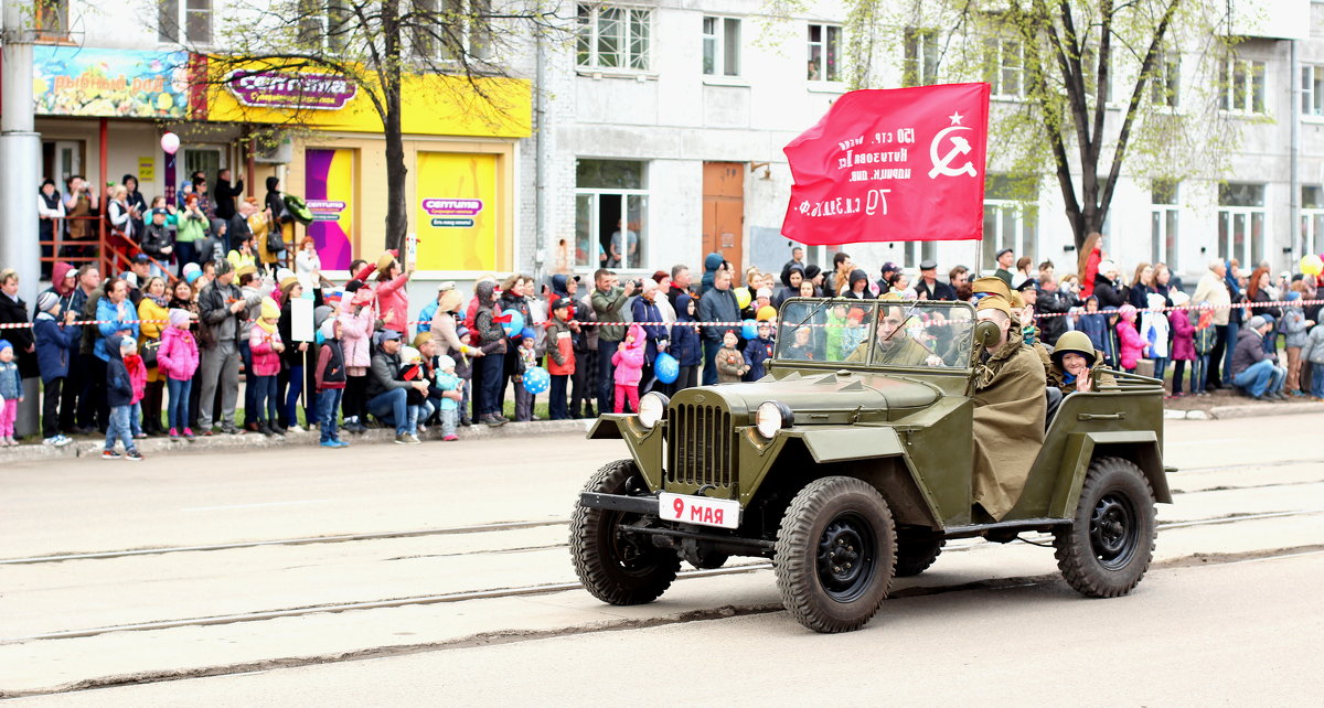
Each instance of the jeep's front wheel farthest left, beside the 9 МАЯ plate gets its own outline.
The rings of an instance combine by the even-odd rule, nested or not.
[[[634,461],[609,462],[588,480],[584,491],[628,494],[643,488]],[[633,480],[633,482],[632,482]],[[633,484],[633,487],[632,487]],[[621,525],[637,521],[637,513],[576,506],[571,516],[571,554],[584,589],[610,605],[653,602],[675,580],[681,558],[641,535],[625,533]]]

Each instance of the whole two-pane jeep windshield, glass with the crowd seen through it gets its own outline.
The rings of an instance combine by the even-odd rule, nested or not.
[[[788,300],[777,324],[777,359],[825,364],[964,369],[974,310],[922,300]]]

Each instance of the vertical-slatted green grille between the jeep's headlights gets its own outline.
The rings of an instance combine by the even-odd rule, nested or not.
[[[712,484],[730,490],[733,457],[731,413],[720,406],[671,406],[667,425],[667,482],[695,487]]]

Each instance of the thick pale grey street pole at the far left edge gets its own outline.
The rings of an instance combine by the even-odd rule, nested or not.
[[[0,269],[19,271],[19,295],[33,304],[41,277],[37,243],[36,193],[41,164],[41,135],[33,130],[32,4],[4,0],[3,61],[0,65],[0,184],[16,199],[0,209]]]

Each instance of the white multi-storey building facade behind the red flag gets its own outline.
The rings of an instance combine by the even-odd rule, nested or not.
[[[846,90],[842,4],[810,3],[777,19],[761,0],[579,3],[576,11],[575,42],[547,54],[545,228],[538,234],[523,221],[530,238],[520,266],[588,273],[606,251],[606,262],[645,274],[698,266],[720,251],[741,269],[780,269],[793,245],[780,236],[792,185],[781,148]],[[1137,263],[1166,262],[1189,281],[1215,257],[1284,270],[1324,250],[1324,4],[1256,4],[1238,32],[1217,107],[1239,138],[1223,167],[1165,180],[1124,165],[1103,232],[1128,278]],[[884,50],[880,64],[891,69],[882,86],[951,81],[932,56],[940,41]],[[1017,60],[998,73],[1005,85],[994,90],[994,119],[1000,105],[1017,101]],[[1190,91],[1204,81],[1196,60],[1173,61],[1174,97],[1182,82]],[[1121,99],[1108,105],[1110,124],[1123,107]],[[522,179],[534,184],[535,146],[522,150]],[[1026,202],[1008,189],[996,159],[988,171],[980,266],[992,269],[993,254],[1013,247],[1074,271],[1057,180],[1046,175]],[[523,209],[535,206],[526,191]],[[809,259],[830,263],[834,250],[812,247]],[[936,258],[945,270],[977,258],[970,242],[841,250],[873,269]]]

